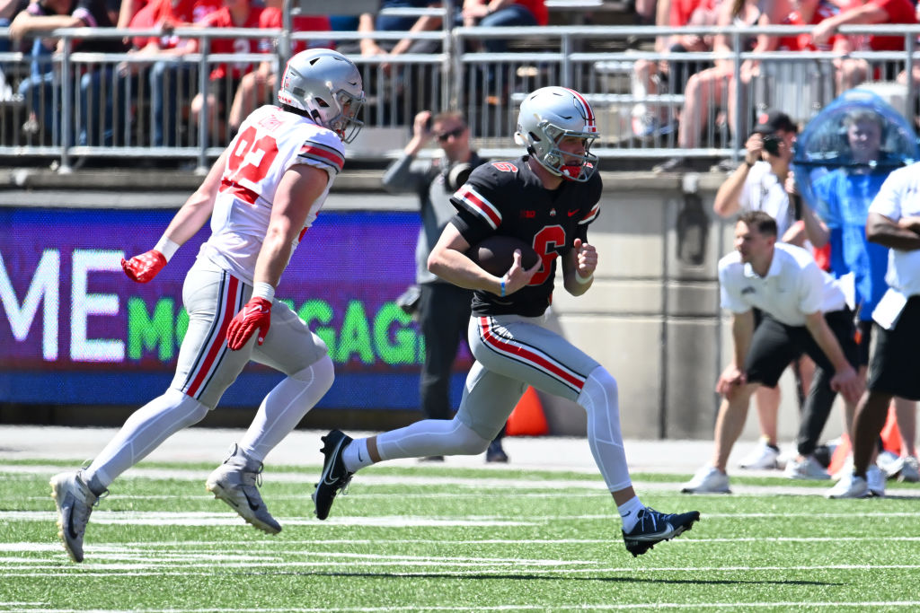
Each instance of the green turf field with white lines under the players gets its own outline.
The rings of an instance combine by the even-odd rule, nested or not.
[[[76,464],[0,460],[0,610],[920,610],[917,486],[828,501],[827,482],[733,476],[752,493],[686,496],[687,475],[636,474],[647,505],[702,519],[633,558],[599,476],[374,467],[320,522],[319,467],[272,466],[270,537],[204,491],[212,465],[144,462],[75,564],[48,479]]]

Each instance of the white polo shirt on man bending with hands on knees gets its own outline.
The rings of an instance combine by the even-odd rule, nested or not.
[[[756,307],[787,325],[805,325],[813,312],[843,311],[844,292],[804,249],[776,243],[765,277],[732,251],[719,260],[720,304],[730,312]]]

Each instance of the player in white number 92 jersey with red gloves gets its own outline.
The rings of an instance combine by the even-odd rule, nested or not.
[[[343,142],[362,126],[361,74],[337,51],[303,51],[288,62],[278,100],[280,107],[258,108],[243,122],[155,248],[122,260],[129,278],[146,283],[211,220],[211,237],[182,291],[189,330],[169,389],[132,414],[88,468],[52,478],[60,536],[75,562],[83,560],[86,521],[109,483],[201,421],[250,359],[287,377],[206,487],[256,528],[282,529],[259,495],[262,460],[334,375],[326,345],[274,291],[342,169]]]

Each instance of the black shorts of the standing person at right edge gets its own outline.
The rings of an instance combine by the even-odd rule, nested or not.
[[[874,328],[868,389],[920,400],[920,296],[904,306],[893,330]]]

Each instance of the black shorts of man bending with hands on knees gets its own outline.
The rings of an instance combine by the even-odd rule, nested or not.
[[[824,313],[824,321],[827,322],[840,344],[846,360],[856,369],[859,349],[856,341],[856,326],[853,324],[853,313],[849,311]],[[807,327],[781,324],[768,313],[763,313],[760,324],[753,331],[751,347],[744,358],[743,370],[749,383],[776,387],[776,383],[779,382],[789,362],[798,359],[802,354],[808,354],[819,369],[834,372],[834,365],[824,355]]]

